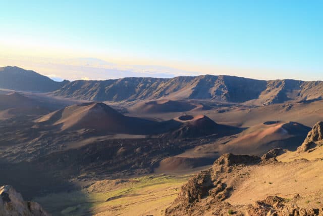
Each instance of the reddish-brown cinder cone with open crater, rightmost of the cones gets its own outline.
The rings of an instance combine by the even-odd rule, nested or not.
[[[296,122],[264,122],[249,127],[239,134],[196,146],[178,156],[216,159],[230,152],[261,156],[273,148],[296,150],[308,131],[310,131],[309,127]]]

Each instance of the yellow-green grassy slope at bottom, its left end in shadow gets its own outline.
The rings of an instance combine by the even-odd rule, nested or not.
[[[122,184],[106,180],[79,191],[38,197],[35,201],[53,215],[158,215],[163,214],[176,198],[188,178],[152,175],[133,178]]]

